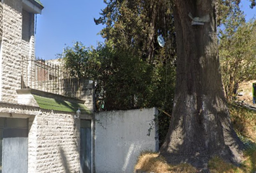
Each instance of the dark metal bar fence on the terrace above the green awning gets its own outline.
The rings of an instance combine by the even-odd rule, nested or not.
[[[85,91],[85,79],[71,76],[62,61],[31,60],[22,58],[22,89],[37,89],[81,99]]]

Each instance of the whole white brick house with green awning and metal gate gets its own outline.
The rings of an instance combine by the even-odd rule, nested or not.
[[[0,173],[93,172],[93,102],[89,110],[83,100],[30,87],[42,9],[39,0],[0,0]],[[90,165],[80,164],[85,156]]]

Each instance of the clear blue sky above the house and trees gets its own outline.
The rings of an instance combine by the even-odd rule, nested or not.
[[[103,42],[97,35],[103,28],[95,25],[93,18],[100,17],[106,4],[103,0],[40,0],[44,6],[42,14],[37,15],[35,56],[54,59],[67,45],[75,41],[85,46],[96,46]],[[242,0],[247,19],[256,17],[256,8],[249,9],[249,0]]]

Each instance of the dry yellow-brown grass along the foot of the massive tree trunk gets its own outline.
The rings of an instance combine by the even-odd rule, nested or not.
[[[222,159],[215,157],[208,163],[208,168],[211,173],[254,173],[256,171],[256,151],[248,154],[245,152],[245,159],[240,167],[227,163]],[[135,166],[136,173],[197,173],[195,167],[189,164],[179,164],[172,166],[166,163],[166,160],[153,153],[143,153]]]

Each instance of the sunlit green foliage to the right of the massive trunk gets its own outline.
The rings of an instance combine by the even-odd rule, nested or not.
[[[228,100],[234,99],[239,84],[255,77],[255,22],[245,22],[239,1],[222,1],[219,27],[219,57],[224,92]]]

